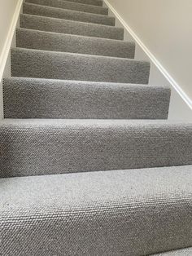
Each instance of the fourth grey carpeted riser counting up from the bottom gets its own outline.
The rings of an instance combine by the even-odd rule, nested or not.
[[[11,50],[13,77],[147,84],[150,63],[98,55]]]

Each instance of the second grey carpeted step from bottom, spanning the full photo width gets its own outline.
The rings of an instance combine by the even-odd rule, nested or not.
[[[192,123],[6,119],[2,177],[192,164]]]

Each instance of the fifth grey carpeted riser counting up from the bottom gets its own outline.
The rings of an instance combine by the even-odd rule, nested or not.
[[[105,55],[133,59],[135,43],[33,29],[17,29],[16,45],[21,48]]]

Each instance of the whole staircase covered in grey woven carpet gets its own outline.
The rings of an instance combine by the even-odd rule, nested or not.
[[[3,81],[0,254],[192,255],[192,123],[168,121],[102,0],[26,0]]]

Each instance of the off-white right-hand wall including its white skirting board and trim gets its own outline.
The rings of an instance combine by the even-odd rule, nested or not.
[[[169,119],[192,121],[192,1],[104,1],[124,40],[135,40],[136,59],[151,61],[150,83],[171,86]]]

